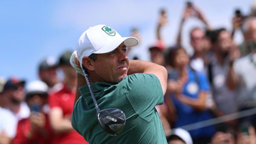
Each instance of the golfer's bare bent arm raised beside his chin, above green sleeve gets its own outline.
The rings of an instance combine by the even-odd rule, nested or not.
[[[158,77],[163,94],[165,94],[167,87],[167,70],[164,66],[147,61],[131,60],[128,75],[135,73],[154,74],[156,77]]]

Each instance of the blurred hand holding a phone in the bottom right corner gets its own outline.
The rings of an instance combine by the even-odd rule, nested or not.
[[[249,127],[249,135],[240,133],[237,137],[237,144],[256,144],[256,134],[254,127]]]

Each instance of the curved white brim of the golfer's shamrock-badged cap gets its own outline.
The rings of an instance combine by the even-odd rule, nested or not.
[[[139,44],[138,39],[136,39],[135,37],[120,37],[117,39],[113,39],[113,41],[108,42],[107,44],[102,46],[99,50],[93,53],[105,54],[105,53],[111,52],[112,50],[115,50],[122,42],[124,42],[126,47],[136,46],[137,44]]]

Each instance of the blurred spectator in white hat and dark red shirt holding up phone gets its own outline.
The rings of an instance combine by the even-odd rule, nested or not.
[[[26,87],[26,103],[30,107],[29,118],[19,121],[13,144],[49,144],[52,132],[45,105],[48,86],[43,81],[32,81]]]

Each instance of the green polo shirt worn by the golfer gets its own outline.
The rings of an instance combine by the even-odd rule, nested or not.
[[[91,84],[99,108],[118,108],[126,115],[124,130],[108,135],[100,126],[87,86],[74,106],[72,125],[90,144],[167,144],[160,117],[155,109],[163,103],[159,79],[153,74],[132,74],[120,83]]]

